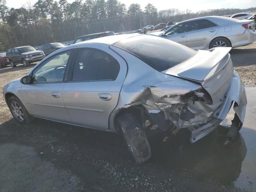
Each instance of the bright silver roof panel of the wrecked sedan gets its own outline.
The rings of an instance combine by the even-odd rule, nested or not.
[[[114,44],[114,43],[116,43],[120,40],[127,39],[127,38],[134,37],[134,36],[139,36],[139,35],[142,35],[142,34],[112,35],[112,36],[106,36],[106,37],[90,39],[90,40],[87,40],[87,41],[82,41],[82,42],[76,43],[74,45],[86,44],[86,43],[100,43],[100,44],[112,45],[112,44]]]

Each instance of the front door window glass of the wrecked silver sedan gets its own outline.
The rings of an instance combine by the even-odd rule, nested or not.
[[[34,82],[60,82],[63,81],[66,64],[71,51],[52,56],[33,72]]]

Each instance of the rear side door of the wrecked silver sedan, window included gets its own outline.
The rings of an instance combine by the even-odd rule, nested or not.
[[[63,100],[73,124],[108,129],[108,118],[118,103],[127,66],[124,59],[100,44],[78,50]]]

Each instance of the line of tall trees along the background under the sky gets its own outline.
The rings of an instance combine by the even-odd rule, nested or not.
[[[210,15],[228,15],[248,9],[213,9],[192,12],[176,8],[160,10],[152,4],[144,8],[131,4],[126,8],[118,0],[38,0],[34,5],[8,8],[0,0],[0,51],[23,45],[74,40],[78,36],[104,32],[136,30],[148,24],[179,22]]]

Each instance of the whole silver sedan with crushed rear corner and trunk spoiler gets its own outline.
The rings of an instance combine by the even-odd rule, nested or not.
[[[118,35],[67,46],[4,86],[14,118],[32,117],[122,134],[136,162],[151,157],[146,122],[196,142],[231,108],[230,136],[242,127],[246,93],[231,48],[192,50],[149,35]]]

